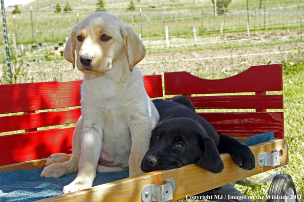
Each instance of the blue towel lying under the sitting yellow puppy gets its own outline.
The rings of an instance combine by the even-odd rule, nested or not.
[[[42,168],[0,172],[0,201],[30,202],[62,194],[62,188],[70,184],[77,173],[61,178],[40,178]],[[128,170],[121,172],[97,172],[93,186],[128,178]]]

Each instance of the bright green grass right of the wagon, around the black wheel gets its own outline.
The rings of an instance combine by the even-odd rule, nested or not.
[[[289,164],[283,167],[276,168],[271,171],[260,173],[251,176],[249,179],[260,181],[271,174],[282,170],[283,173],[290,174],[296,186],[298,196],[304,201],[304,61],[302,59],[294,60],[294,65],[283,63],[283,95],[284,95],[284,127],[285,139],[288,143],[289,149]],[[238,73],[238,70],[235,70]],[[202,75],[201,75],[202,77]],[[220,72],[214,72],[210,75],[203,75],[204,78],[209,77],[213,79],[223,78]],[[273,92],[272,94],[280,94],[281,92]],[[203,186],[203,184],[202,184]],[[265,201],[266,199],[258,199],[256,196],[264,196],[268,193],[270,182],[266,185],[260,185],[256,188],[244,187],[236,185],[235,187],[247,196],[254,196],[253,201]],[[262,198],[262,197],[261,197]],[[192,202],[194,200],[179,200]],[[204,200],[198,200],[204,201]]]

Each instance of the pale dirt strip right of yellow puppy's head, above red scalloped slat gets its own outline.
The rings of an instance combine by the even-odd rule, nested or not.
[[[303,57],[304,43],[285,44],[284,51],[278,46],[259,46],[221,50],[199,50],[150,54],[138,66],[144,74],[162,74],[167,71],[189,71],[195,75],[222,71],[227,76],[232,70],[245,70],[254,65],[295,62]],[[232,71],[233,72],[233,71]]]

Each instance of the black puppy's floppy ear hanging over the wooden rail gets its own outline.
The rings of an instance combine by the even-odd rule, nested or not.
[[[200,146],[203,156],[194,163],[210,172],[221,172],[224,169],[224,163],[214,141],[211,138],[204,138],[200,140]]]

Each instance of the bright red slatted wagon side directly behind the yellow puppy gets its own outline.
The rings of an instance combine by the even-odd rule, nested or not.
[[[161,75],[144,76],[143,81],[151,98],[163,96]],[[0,135],[9,131],[18,133],[0,136],[0,165],[71,152],[75,127],[38,131],[37,128],[77,122],[81,115],[79,108],[60,108],[80,106],[81,82],[0,85],[0,114],[3,114],[0,117]],[[58,108],[57,111],[38,111]],[[23,114],[12,114],[18,112]]]

